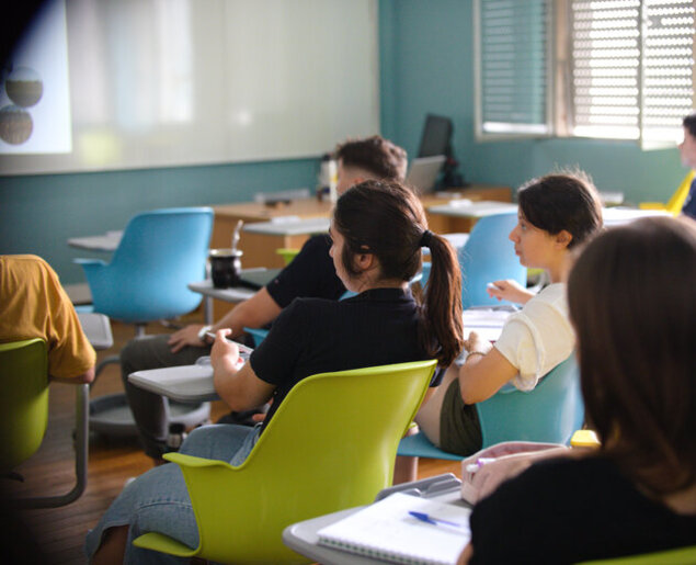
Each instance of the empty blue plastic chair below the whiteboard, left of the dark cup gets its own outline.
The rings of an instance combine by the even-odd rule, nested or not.
[[[134,216],[110,263],[76,259],[84,269],[93,310],[127,324],[136,336],[148,321],[174,318],[201,304],[202,295],[187,284],[205,279],[213,208],[182,207],[145,212]],[[96,374],[112,355],[100,362]],[[207,421],[209,403],[181,404],[166,399],[170,423],[196,426]],[[111,394],[90,403],[90,426],[111,436],[130,436],[136,427],[124,394]]]

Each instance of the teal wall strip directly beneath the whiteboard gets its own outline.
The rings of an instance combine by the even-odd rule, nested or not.
[[[64,284],[84,282],[69,237],[123,229],[144,210],[243,202],[256,192],[313,189],[319,161],[266,161],[79,174],[0,177],[0,253],[36,253]],[[104,257],[103,255],[101,257]]]

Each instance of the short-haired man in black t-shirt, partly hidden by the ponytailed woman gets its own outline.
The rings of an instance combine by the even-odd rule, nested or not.
[[[406,151],[379,136],[349,140],[336,148],[335,157],[339,161],[339,194],[367,179],[403,180],[406,176]],[[330,247],[328,236],[311,237],[273,281],[213,326],[194,324],[171,335],[135,339],[121,351],[121,372],[128,404],[145,452],[156,463],[162,462],[166,451],[164,402],[161,396],[128,383],[128,375],[148,369],[193,364],[210,352],[206,332],[230,329],[230,337],[237,338],[244,327],[261,328],[271,324],[296,297],[340,298],[345,286],[331,263]],[[232,418],[230,422],[233,421]]]

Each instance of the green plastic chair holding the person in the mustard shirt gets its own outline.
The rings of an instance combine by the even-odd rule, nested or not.
[[[0,473],[13,470],[42,444],[48,423],[48,351],[43,339],[0,343]],[[55,508],[76,500],[87,486],[89,385],[77,388],[76,485],[65,495],[20,498],[23,508]]]

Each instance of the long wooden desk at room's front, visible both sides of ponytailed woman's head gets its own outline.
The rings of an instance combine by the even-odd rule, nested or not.
[[[470,184],[464,189],[453,189],[448,195],[424,194],[421,196],[423,206],[434,206],[446,204],[456,194],[463,199],[472,201],[494,200],[499,202],[511,202],[512,190],[510,187],[497,187],[490,184]],[[244,202],[240,204],[221,204],[213,206],[215,211],[215,223],[213,225],[212,248],[229,247],[231,234],[237,226],[237,222],[243,219],[251,224],[256,222],[269,222],[281,216],[298,216],[303,219],[324,217],[331,214],[330,202],[319,202],[317,199],[305,199],[292,201],[288,204],[277,204],[266,206],[259,202]],[[476,219],[446,217],[437,214],[427,214],[430,228],[437,234],[450,234],[469,231]],[[275,250],[281,247],[299,248],[310,234],[253,234],[242,231],[239,240],[239,249],[244,255],[242,265],[278,268],[285,263],[283,258]]]

